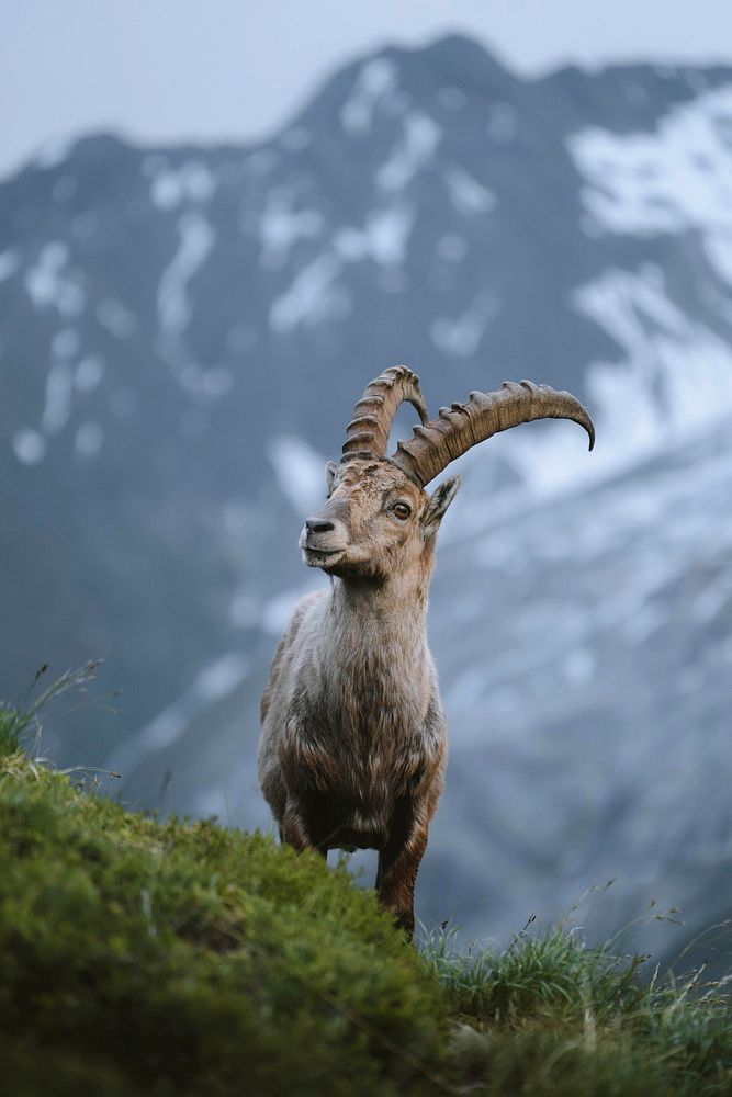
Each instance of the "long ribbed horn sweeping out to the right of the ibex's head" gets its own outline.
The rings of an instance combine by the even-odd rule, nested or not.
[[[471,393],[466,404],[440,408],[437,419],[415,427],[413,438],[398,443],[390,461],[424,487],[472,445],[531,419],[572,419],[589,434],[590,450],[595,444],[589,412],[571,393],[531,381],[506,381],[495,393]]]

